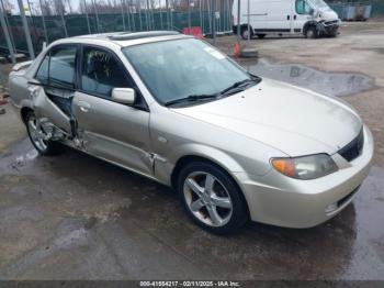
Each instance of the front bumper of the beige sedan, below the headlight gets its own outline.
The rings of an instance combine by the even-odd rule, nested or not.
[[[335,217],[352,201],[370,171],[374,144],[366,126],[364,139],[358,158],[348,163],[335,154],[334,159],[343,162],[343,167],[318,179],[293,179],[274,169],[262,179],[252,179],[245,173],[236,174],[251,220],[279,226],[310,228]]]

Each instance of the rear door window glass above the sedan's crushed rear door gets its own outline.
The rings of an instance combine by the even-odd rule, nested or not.
[[[69,88],[75,87],[76,46],[53,48],[42,62],[36,79],[42,84]]]

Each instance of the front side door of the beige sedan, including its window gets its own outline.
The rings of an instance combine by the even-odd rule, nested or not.
[[[113,52],[103,47],[84,45],[81,58],[72,111],[83,148],[137,173],[153,175],[149,112],[144,109],[143,97],[128,71]],[[136,103],[115,102],[113,88],[136,89]]]

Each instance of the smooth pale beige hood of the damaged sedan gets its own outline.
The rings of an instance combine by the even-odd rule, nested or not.
[[[359,115],[347,104],[266,78],[244,92],[172,110],[262,142],[290,156],[331,155],[362,129]]]

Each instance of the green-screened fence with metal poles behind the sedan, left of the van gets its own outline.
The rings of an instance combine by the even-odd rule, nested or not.
[[[10,1],[18,2],[12,4]],[[32,55],[33,58],[44,42],[49,44],[63,37],[118,31],[181,32],[199,26],[203,35],[214,34],[214,29],[215,34],[230,33],[233,1],[0,0],[0,51],[9,54],[11,46],[13,53]]]

